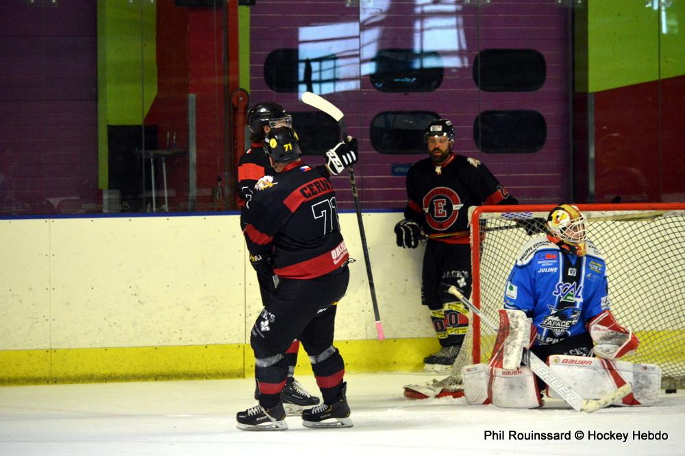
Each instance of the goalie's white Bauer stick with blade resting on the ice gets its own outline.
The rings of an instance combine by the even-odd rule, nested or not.
[[[495,332],[499,331],[499,328],[495,326],[493,322],[488,319],[485,315],[479,311],[474,305],[473,302],[469,301],[466,299],[466,297],[462,294],[461,291],[457,289],[457,287],[449,287],[449,293],[453,294],[461,302],[466,305],[466,307],[469,307],[475,315],[478,315],[478,317],[490,328],[493,328]],[[559,396],[561,396],[562,399],[566,401],[575,411],[586,411],[588,413],[597,411],[603,407],[606,407],[608,405],[612,405],[615,403],[617,400],[623,399],[625,396],[630,394],[633,390],[633,386],[631,383],[626,383],[622,387],[605,394],[599,399],[584,399],[578,394],[571,385],[566,383],[564,379],[562,379],[556,372],[552,370],[552,368],[549,367],[542,359],[538,358],[537,355],[535,355],[534,352],[525,349],[525,355],[524,359],[528,360],[528,367],[531,368],[535,374],[542,379],[551,389],[556,392]]]

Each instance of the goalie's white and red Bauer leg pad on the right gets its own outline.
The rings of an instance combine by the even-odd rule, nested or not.
[[[632,383],[632,394],[613,405],[654,405],[659,400],[661,368],[656,364],[552,355],[549,366],[586,399],[598,399],[625,383]],[[549,388],[547,396],[559,397]]]

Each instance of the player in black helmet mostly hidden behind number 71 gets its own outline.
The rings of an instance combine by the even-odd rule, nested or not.
[[[271,128],[284,126],[292,128],[292,117],[281,105],[273,101],[264,101],[256,104],[249,110],[247,113],[247,125],[250,130],[251,147],[240,157],[240,162],[238,163],[238,182],[236,184],[238,195],[240,195],[240,225],[243,230],[245,229],[245,223],[242,221],[242,215],[245,211],[245,203],[251,199],[255,191],[255,184],[263,176],[273,176],[273,169],[269,165],[269,159],[264,154],[264,135],[271,131]],[[341,145],[343,143],[339,143],[336,148],[327,152],[327,164],[325,166],[316,167],[324,176],[329,177],[331,174],[339,174],[345,169],[343,162],[348,163],[351,160],[356,160],[356,151],[345,149],[345,154],[343,154],[342,149],[340,149],[341,152],[338,154],[336,151],[338,151]],[[269,296],[275,290],[278,276],[265,274],[259,270],[256,273],[262,304],[266,306]],[[302,407],[319,403],[319,398],[312,396],[295,379],[298,351],[299,341],[295,339],[285,355],[288,362],[288,379],[282,392],[282,398],[286,405],[286,411],[290,415],[301,413]],[[255,398],[258,398],[257,396],[258,394],[255,392]]]

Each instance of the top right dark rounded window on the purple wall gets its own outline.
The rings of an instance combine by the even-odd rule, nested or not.
[[[475,85],[486,92],[536,91],[545,77],[545,58],[534,49],[485,49],[473,62]]]

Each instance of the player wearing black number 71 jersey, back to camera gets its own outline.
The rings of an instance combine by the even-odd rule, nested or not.
[[[355,149],[354,139],[338,145],[327,153],[328,167],[342,171],[340,156]],[[238,428],[287,429],[281,396],[288,378],[285,354],[298,336],[323,396],[323,404],[303,411],[303,424],[349,427],[345,364],[333,346],[336,304],[349,282],[335,191],[325,171],[302,162],[291,128],[271,129],[264,152],[275,172],[258,181],[242,220],[253,267],[277,274],[279,283],[251,331],[259,404],[237,414]]]

